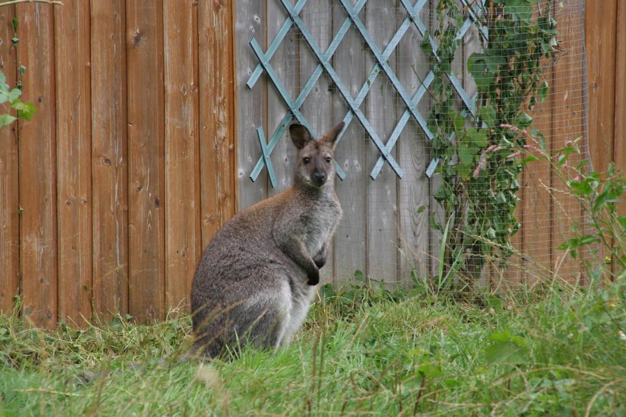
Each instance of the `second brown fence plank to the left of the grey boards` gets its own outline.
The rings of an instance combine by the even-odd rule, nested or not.
[[[188,307],[200,255],[198,3],[163,3],[165,55],[165,307]]]

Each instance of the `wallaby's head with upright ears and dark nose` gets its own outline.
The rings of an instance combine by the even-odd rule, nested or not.
[[[289,126],[291,140],[298,149],[298,165],[295,167],[297,182],[321,188],[335,175],[333,163],[335,143],[344,125],[342,121],[318,140],[315,140],[309,130],[302,125],[295,123]]]

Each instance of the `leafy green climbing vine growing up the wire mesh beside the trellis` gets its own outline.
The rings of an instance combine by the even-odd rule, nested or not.
[[[444,236],[440,285],[467,289],[486,262],[503,269],[513,254],[511,237],[520,229],[516,193],[524,167],[518,155],[526,145],[525,136],[516,131],[531,131],[545,150],[545,139],[533,128],[529,113],[548,95],[544,71],[559,52],[551,4],[494,0],[481,6],[488,36],[483,51],[465,63],[478,90],[472,114],[455,108],[456,93],[446,76],[469,6],[453,0],[438,3],[438,26],[429,36],[439,44],[440,59],[433,69],[428,123],[435,134],[432,153],[440,160],[441,182],[434,198],[444,212],[443,221],[431,217],[431,225]],[[428,40],[423,48],[431,48]]]

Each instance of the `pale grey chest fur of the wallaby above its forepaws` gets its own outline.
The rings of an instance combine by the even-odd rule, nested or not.
[[[305,214],[304,244],[314,257],[334,232],[341,220],[341,206],[333,198],[318,202]]]

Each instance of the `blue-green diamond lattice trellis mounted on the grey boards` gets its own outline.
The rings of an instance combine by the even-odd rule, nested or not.
[[[314,85],[316,84],[317,80],[319,80],[320,76],[322,75],[322,73],[324,73],[324,71],[326,71],[327,75],[331,78],[334,85],[336,85],[337,90],[339,90],[339,93],[341,93],[342,98],[346,101],[346,104],[349,107],[349,110],[343,119],[343,121],[346,122],[346,126],[344,127],[344,130],[342,130],[341,133],[339,133],[339,138],[337,140],[341,140],[341,136],[346,131],[347,126],[351,123],[352,119],[356,117],[357,120],[361,123],[361,125],[365,129],[365,131],[367,132],[367,134],[369,135],[369,137],[371,138],[372,142],[374,142],[379,152],[381,153],[376,164],[374,165],[374,168],[372,168],[372,172],[370,173],[370,177],[372,178],[372,180],[376,180],[376,177],[381,171],[381,168],[384,165],[385,161],[389,163],[389,165],[391,165],[391,168],[393,168],[394,172],[396,172],[396,175],[398,175],[399,178],[403,178],[404,172],[402,168],[399,166],[398,162],[396,162],[396,160],[394,159],[393,155],[391,155],[391,150],[393,150],[393,147],[396,144],[396,141],[398,140],[400,134],[404,130],[404,127],[407,125],[409,118],[411,117],[413,117],[418,122],[418,125],[424,131],[426,136],[428,136],[429,139],[433,139],[434,135],[429,130],[426,124],[426,120],[424,119],[424,116],[421,115],[421,113],[419,113],[418,103],[421,100],[421,98],[424,96],[426,91],[428,91],[428,88],[434,79],[434,73],[433,71],[429,71],[428,75],[426,75],[424,80],[421,82],[421,85],[416,90],[414,95],[409,96],[409,94],[404,89],[403,85],[398,80],[398,77],[396,76],[394,71],[391,69],[391,66],[389,66],[387,59],[389,59],[389,56],[391,56],[394,49],[396,49],[396,46],[398,46],[399,42],[403,38],[406,31],[408,31],[408,29],[411,27],[411,25],[414,25],[418,29],[419,34],[423,38],[426,37],[426,34],[427,34],[426,25],[424,25],[423,21],[421,21],[421,19],[419,18],[419,13],[424,8],[424,6],[428,3],[428,0],[418,0],[415,4],[411,4],[411,1],[409,0],[401,0],[401,4],[404,10],[406,10],[407,16],[404,19],[403,23],[399,26],[398,30],[394,34],[391,41],[389,41],[389,44],[387,44],[387,47],[383,51],[381,51],[378,48],[377,44],[374,42],[371,35],[367,31],[365,25],[362,23],[361,19],[359,18],[359,12],[361,11],[362,8],[364,8],[365,4],[367,3],[367,0],[358,0],[356,4],[354,5],[351,4],[350,0],[339,0],[341,2],[342,7],[346,10],[347,18],[341,24],[339,30],[337,31],[337,34],[332,39],[326,51],[322,51],[322,49],[316,43],[313,36],[310,34],[309,29],[307,29],[304,22],[299,17],[300,12],[304,8],[308,0],[298,0],[295,5],[290,4],[289,0],[280,0],[280,1],[282,5],[284,6],[285,10],[287,11],[288,17],[287,19],[285,19],[285,22],[280,27],[276,37],[270,44],[267,51],[264,52],[262,50],[259,43],[257,42],[257,39],[255,38],[250,39],[250,46],[252,46],[252,50],[254,51],[257,58],[259,58],[260,63],[258,64],[257,68],[255,68],[254,72],[250,76],[247,82],[247,86],[250,89],[252,89],[255,83],[257,82],[257,80],[259,80],[259,76],[262,74],[263,71],[265,71],[267,75],[269,76],[269,79],[272,81],[275,88],[279,92],[280,96],[285,101],[285,105],[287,105],[289,110],[285,114],[283,120],[280,122],[277,130],[274,132],[274,134],[270,138],[269,143],[266,142],[263,128],[262,127],[257,128],[257,135],[259,138],[262,155],[257,161],[257,164],[255,165],[254,169],[252,170],[252,173],[250,173],[250,178],[252,178],[252,181],[257,180],[263,167],[266,167],[272,187],[276,186],[276,176],[274,173],[274,169],[272,168],[272,160],[270,157],[272,155],[272,151],[274,150],[276,144],[278,143],[278,141],[284,134],[285,129],[287,128],[287,126],[289,126],[289,123],[292,120],[294,119],[297,120],[299,123],[306,126],[309,129],[309,131],[312,133],[312,135],[316,135],[316,132],[311,128],[309,122],[300,112],[300,107],[302,106],[307,96],[309,95],[310,91],[312,91]],[[468,29],[470,28],[472,24],[476,25],[476,27],[480,30],[480,32],[484,35],[484,38],[486,39],[488,35],[487,28],[483,26],[483,24],[481,24],[480,22],[480,12],[481,12],[483,5],[485,4],[485,1],[486,0],[478,1],[478,3],[480,4],[479,4],[478,10],[476,11],[475,9],[471,7],[471,4],[470,4],[470,3],[475,3],[475,2],[469,1],[469,0],[461,0],[461,3],[463,3],[463,5],[466,7],[466,10],[468,12],[467,12],[466,19],[464,20],[463,26],[461,26],[458,33],[456,34],[456,39],[463,38],[464,34],[468,31]],[[300,91],[299,95],[297,96],[297,98],[295,98],[295,100],[289,95],[289,93],[285,89],[285,86],[282,84],[278,75],[275,73],[274,69],[272,68],[272,65],[270,64],[270,59],[272,59],[272,56],[274,56],[274,53],[277,51],[280,44],[285,39],[285,36],[289,32],[289,29],[292,28],[292,26],[295,26],[295,28],[297,28],[300,31],[300,33],[302,33],[303,38],[305,39],[309,47],[312,49],[312,52],[315,54],[318,60],[318,64],[315,70],[313,71],[312,75],[310,75],[309,79],[306,81],[304,87],[302,88],[302,91]],[[354,26],[354,28],[356,28],[356,30],[361,35],[361,37],[363,38],[367,46],[371,49],[372,53],[374,54],[374,58],[376,59],[376,64],[374,65],[369,75],[367,76],[367,79],[364,85],[362,86],[361,90],[357,94],[356,98],[352,98],[352,95],[349,93],[344,83],[342,83],[341,79],[337,75],[336,71],[332,68],[332,64],[331,64],[332,55],[337,50],[337,47],[339,46],[342,39],[346,35],[347,31],[351,28],[351,26]],[[436,61],[439,61],[440,59],[438,56],[439,48],[438,48],[438,45],[436,44],[436,41],[434,41],[433,37],[431,36],[428,37],[428,41],[431,44],[432,58],[435,59]],[[419,48],[419,45],[416,45],[416,48]],[[376,131],[374,131],[374,128],[372,128],[372,125],[367,120],[366,115],[364,115],[362,111],[359,109],[359,107],[361,106],[361,103],[367,96],[368,91],[370,90],[371,86],[374,84],[374,80],[376,80],[376,77],[379,75],[379,73],[381,73],[381,71],[387,76],[389,81],[391,81],[391,84],[394,86],[395,90],[398,92],[398,95],[403,101],[404,106],[405,106],[403,114],[399,118],[398,123],[396,124],[396,127],[394,128],[391,135],[389,135],[389,137],[386,138],[386,141],[383,141],[379,137],[379,135],[377,135]],[[451,85],[454,86],[454,89],[456,90],[459,97],[463,101],[463,105],[465,106],[465,108],[469,111],[471,115],[475,115],[476,96],[473,96],[471,98],[468,96],[466,91],[463,89],[463,86],[459,82],[458,78],[456,78],[456,76],[454,75],[452,71],[449,71],[446,75],[448,76],[448,80],[450,81]],[[439,163],[438,160],[431,161],[429,167],[426,169],[426,175],[430,177],[433,174],[434,170],[436,169],[438,163]],[[341,178],[342,180],[346,178],[346,173],[344,173],[344,171],[341,169],[341,167],[339,167],[339,165],[336,162],[335,162],[335,167],[336,167],[337,175],[339,176],[339,178]]]

